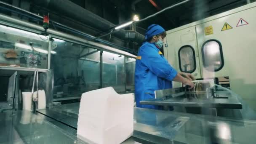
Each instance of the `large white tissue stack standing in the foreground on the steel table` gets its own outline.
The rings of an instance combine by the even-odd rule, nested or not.
[[[77,136],[96,144],[120,144],[133,135],[133,94],[112,87],[82,94]]]

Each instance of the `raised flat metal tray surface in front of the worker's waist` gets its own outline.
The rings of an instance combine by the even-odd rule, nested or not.
[[[206,94],[182,94],[175,97],[164,97],[161,99],[149,99],[140,101],[140,104],[162,105],[162,106],[183,106],[183,107],[211,107],[211,108],[227,108],[242,109],[242,104],[235,96],[227,91],[216,91],[219,97],[213,98]]]

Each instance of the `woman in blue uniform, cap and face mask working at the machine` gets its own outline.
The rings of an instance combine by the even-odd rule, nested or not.
[[[135,67],[135,100],[137,107],[158,109],[153,105],[141,105],[139,101],[154,99],[155,91],[172,88],[172,81],[194,87],[193,76],[178,73],[163,57],[160,48],[166,36],[165,29],[157,24],[148,27],[145,40],[139,48]],[[181,76],[182,75],[182,76]],[[184,78],[186,77],[186,78]]]

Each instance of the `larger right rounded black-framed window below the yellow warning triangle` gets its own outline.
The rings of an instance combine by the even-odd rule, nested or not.
[[[202,46],[203,66],[217,72],[224,66],[222,46],[218,40],[207,40]]]

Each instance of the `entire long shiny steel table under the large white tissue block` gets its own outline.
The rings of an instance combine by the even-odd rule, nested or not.
[[[72,128],[77,127],[78,109],[74,103],[36,113],[1,113],[0,143],[83,144]],[[124,144],[253,144],[255,133],[252,120],[134,108],[134,133]]]

